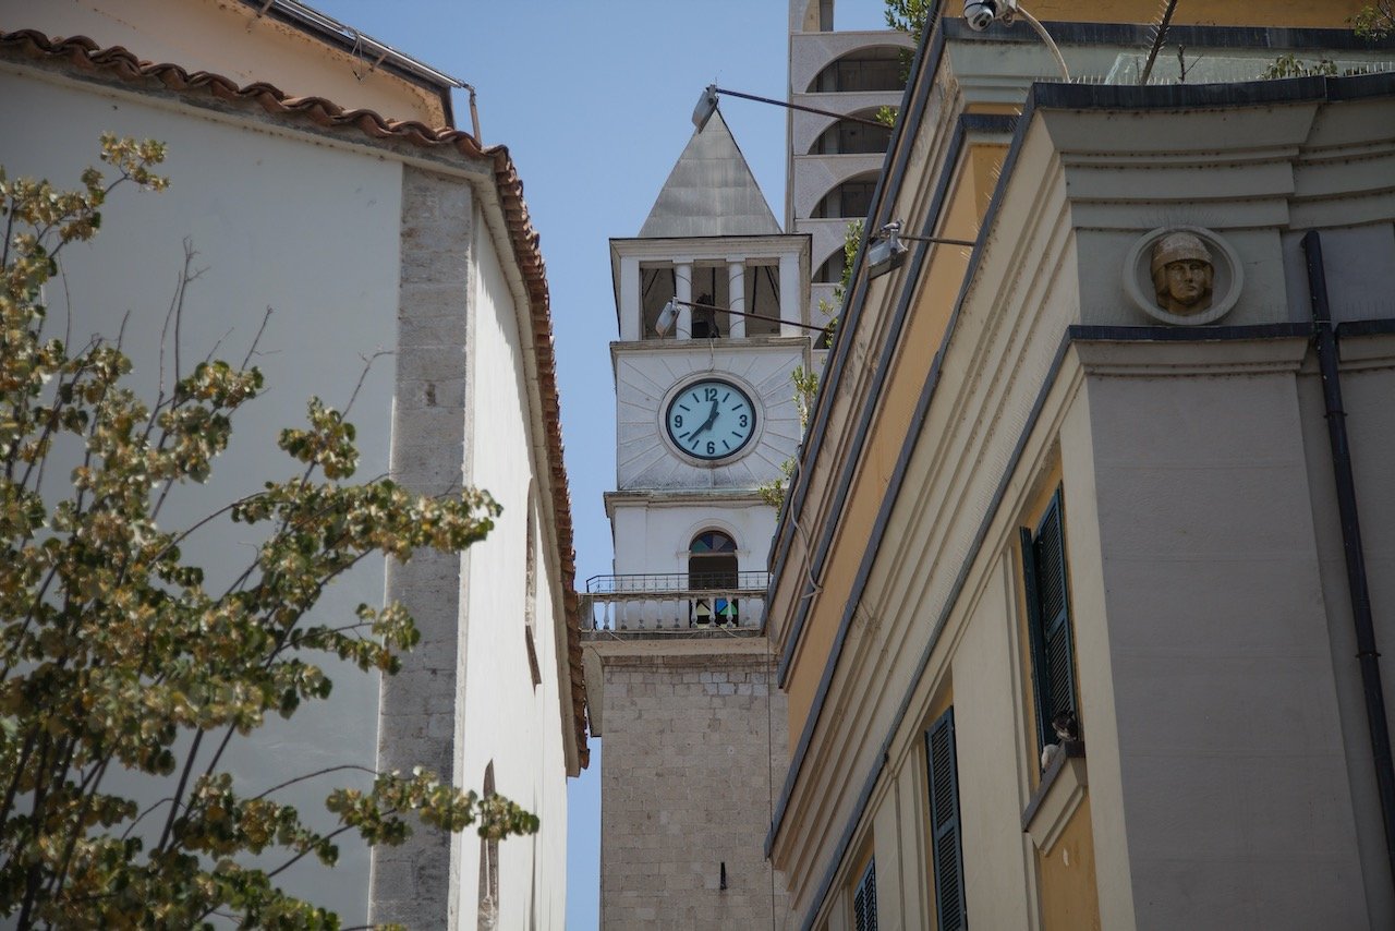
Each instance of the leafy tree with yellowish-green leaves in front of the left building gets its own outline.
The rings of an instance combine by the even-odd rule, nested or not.
[[[332,865],[342,833],[398,844],[420,821],[497,839],[537,819],[416,770],[333,790],[333,826],[317,831],[278,801],[299,780],[250,794],[220,761],[268,715],[329,697],[318,657],[392,674],[416,642],[399,604],[363,604],[335,624],[310,616],[326,585],[374,553],[459,551],[499,509],[484,491],[431,498],[346,482],[354,429],[311,399],[308,424],[280,434],[286,479],[194,526],[160,523],[173,487],[209,476],[262,375],[246,360],[187,373],[176,362],[146,403],[126,385],[119,342],[73,349],[47,335],[43,286],[63,248],[98,232],[113,188],[166,186],[153,172],[163,156],[156,142],[103,137],[114,180],[88,169],[71,191],[0,170],[0,916],[20,928],[188,928],[215,916],[335,928],[333,913],[276,884],[306,857]],[[71,483],[50,494],[45,469],[66,469],[70,454]],[[181,553],[211,521],[262,535],[216,590]],[[165,797],[142,810],[109,790],[121,769]]]

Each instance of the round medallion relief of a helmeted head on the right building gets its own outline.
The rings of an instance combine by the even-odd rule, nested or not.
[[[1124,293],[1165,324],[1198,327],[1230,313],[1244,269],[1230,243],[1201,226],[1162,226],[1133,244]]]

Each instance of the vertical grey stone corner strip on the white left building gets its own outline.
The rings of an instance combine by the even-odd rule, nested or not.
[[[392,479],[424,494],[462,484],[470,187],[402,169],[402,278],[398,300]],[[418,551],[388,561],[388,599],[406,604],[421,642],[382,678],[378,768],[425,766],[452,782],[460,631],[460,556]],[[451,927],[451,837],[413,825],[400,847],[372,851],[370,921]]]

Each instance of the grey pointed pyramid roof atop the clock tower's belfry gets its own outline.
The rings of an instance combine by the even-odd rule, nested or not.
[[[693,133],[658,191],[640,237],[767,236],[780,233],[766,195],[721,110]]]

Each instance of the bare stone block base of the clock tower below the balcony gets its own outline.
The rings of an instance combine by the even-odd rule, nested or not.
[[[605,659],[605,931],[784,927],[763,850],[788,765],[771,674],[763,653]]]

